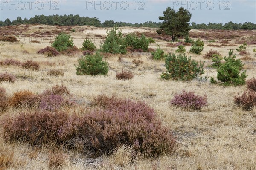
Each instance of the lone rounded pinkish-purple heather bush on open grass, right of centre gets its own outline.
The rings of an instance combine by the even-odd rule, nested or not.
[[[172,105],[184,109],[201,110],[207,104],[207,97],[195,95],[195,92],[186,92],[183,90],[180,94],[175,94],[171,101]]]

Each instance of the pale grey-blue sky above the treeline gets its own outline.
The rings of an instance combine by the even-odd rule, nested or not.
[[[256,23],[256,0],[0,0],[0,20],[79,14],[101,22],[160,22],[158,17],[167,7],[188,9],[190,23]]]

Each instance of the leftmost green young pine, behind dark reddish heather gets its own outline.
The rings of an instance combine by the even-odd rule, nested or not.
[[[64,33],[59,34],[52,43],[52,47],[57,49],[59,52],[65,51],[73,46],[74,44],[71,36]]]

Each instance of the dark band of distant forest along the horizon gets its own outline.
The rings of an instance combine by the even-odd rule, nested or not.
[[[151,27],[159,28],[162,24],[161,22],[152,22],[147,21],[145,23],[125,23],[125,22],[114,22],[113,20],[105,20],[101,23],[98,18],[93,17],[80,17],[79,15],[35,15],[30,19],[17,17],[16,20],[9,20],[8,18],[5,21],[0,21],[0,26],[10,26],[17,24],[46,24],[46,25],[59,25],[59,26],[96,26],[96,27],[113,27],[115,24],[117,26],[134,26],[134,27]],[[192,22],[190,24],[191,29],[226,29],[226,30],[237,30],[237,29],[256,29],[256,24],[251,22],[245,23],[233,23],[228,22],[225,24],[222,23],[208,23],[208,24],[196,24]]]

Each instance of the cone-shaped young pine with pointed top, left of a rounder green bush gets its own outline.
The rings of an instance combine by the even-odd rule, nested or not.
[[[107,31],[107,37],[101,46],[101,52],[108,52],[112,54],[121,53],[126,54],[126,41],[123,37],[122,30],[118,30],[117,26]]]

